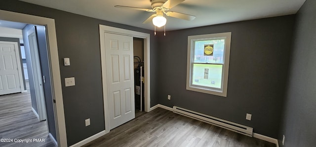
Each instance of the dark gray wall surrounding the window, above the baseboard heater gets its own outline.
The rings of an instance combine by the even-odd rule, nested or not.
[[[159,37],[154,99],[254,128],[276,138],[295,15],[168,31]],[[227,97],[186,90],[189,35],[232,32]],[[167,100],[167,94],[171,100]],[[245,119],[246,113],[252,120]]]

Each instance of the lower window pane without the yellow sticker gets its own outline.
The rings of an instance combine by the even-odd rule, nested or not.
[[[222,64],[193,64],[192,85],[222,88]]]

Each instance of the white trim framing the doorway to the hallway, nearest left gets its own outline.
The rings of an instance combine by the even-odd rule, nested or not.
[[[48,59],[51,67],[51,84],[53,99],[56,100],[54,105],[56,134],[59,147],[67,147],[66,124],[64,114],[63,95],[61,88],[59,58],[57,50],[57,37],[55,29],[55,20],[40,16],[16,13],[11,11],[0,10],[0,19],[5,21],[21,22],[26,24],[36,24],[46,26]]]

